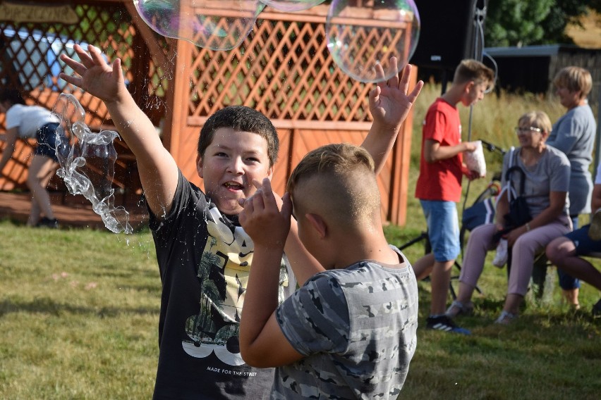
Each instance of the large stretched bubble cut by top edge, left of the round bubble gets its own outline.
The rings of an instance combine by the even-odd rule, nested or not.
[[[239,46],[265,8],[259,0],[133,0],[133,4],[160,35],[212,50]]]

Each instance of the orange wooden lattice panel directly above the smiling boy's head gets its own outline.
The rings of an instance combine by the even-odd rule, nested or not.
[[[334,63],[324,16],[304,17],[262,13],[238,48],[195,48],[189,115],[203,117],[243,104],[275,120],[370,121],[372,86],[353,80]]]

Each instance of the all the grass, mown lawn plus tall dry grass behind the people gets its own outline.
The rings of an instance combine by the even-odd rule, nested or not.
[[[394,244],[425,230],[413,191],[421,121],[439,92],[426,85],[415,105],[407,223],[385,227]],[[516,144],[513,127],[522,113],[542,109],[556,120],[563,110],[554,103],[491,94],[473,108],[472,139],[507,148]],[[460,108],[466,137],[468,109]],[[501,168],[499,157],[485,156],[489,173],[473,182],[468,204]],[[39,230],[4,220],[0,237],[0,399],[150,399],[161,295],[150,233]],[[415,261],[423,245],[404,252]],[[590,317],[590,307],[600,293],[584,284],[583,308],[575,312],[561,303],[554,282],[544,300],[527,297],[514,324],[493,325],[506,270],[493,268],[491,260],[492,254],[480,280],[483,294],[474,299],[475,315],[459,320],[472,330],[470,337],[423,329],[430,285],[419,283],[418,348],[401,398],[596,399],[601,319]],[[553,269],[549,276],[557,280]]]

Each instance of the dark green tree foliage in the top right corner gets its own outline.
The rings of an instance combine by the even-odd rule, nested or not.
[[[489,0],[485,45],[571,44],[566,26],[590,10],[601,11],[601,0]]]

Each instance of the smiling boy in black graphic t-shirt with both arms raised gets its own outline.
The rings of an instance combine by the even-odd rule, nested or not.
[[[214,113],[198,142],[196,164],[203,193],[183,177],[150,119],[128,93],[121,61],[109,65],[94,46],[88,50],[75,46],[80,62],[61,55],[80,75],[61,78],[104,101],[138,161],[162,280],[154,399],[264,399],[274,371],[250,367],[238,349],[253,263],[252,241],[238,223],[238,201],[255,192],[253,180],[272,177],[279,146],[274,126],[248,107]],[[403,81],[404,86],[370,94],[370,104],[375,104],[370,135],[383,138],[366,139],[368,144],[373,140],[374,154],[382,154],[382,146],[394,141],[419,92],[416,88],[408,96]],[[301,282],[321,269],[294,234],[286,242],[286,256]],[[282,254],[279,259],[277,292],[284,299],[296,282]]]

